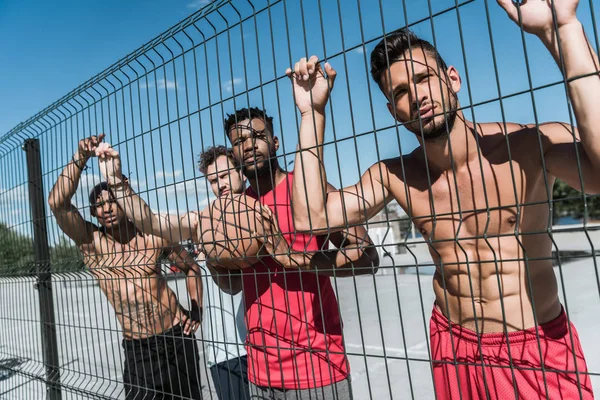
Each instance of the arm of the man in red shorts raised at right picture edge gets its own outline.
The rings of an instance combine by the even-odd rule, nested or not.
[[[598,55],[577,19],[579,0],[528,1],[518,5],[498,0],[508,16],[540,38],[561,69],[569,90],[578,131],[568,124],[540,127],[545,139],[546,167],[552,175],[581,190],[600,193],[600,75]],[[574,136],[580,149],[577,159]]]

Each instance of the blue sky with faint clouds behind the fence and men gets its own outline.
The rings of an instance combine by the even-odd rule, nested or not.
[[[201,3],[206,2],[0,1],[0,54],[8,61],[0,63],[0,133],[185,18]],[[451,8],[454,0],[411,0],[406,4],[399,0],[271,1],[274,6],[270,12],[262,10],[266,0],[252,3],[255,17],[185,52],[183,57],[178,45],[167,41],[168,48],[159,46],[149,57],[160,64],[161,57],[171,60],[170,50],[177,56],[173,62],[142,74],[139,80],[131,79],[134,72],[125,68],[132,83],[123,74],[116,74],[110,78],[117,87],[114,95],[40,136],[46,188],[49,190],[58,170],[70,158],[77,139],[89,131],[103,130],[123,153],[124,169],[138,189],[149,191],[153,207],[172,212],[197,208],[204,204],[207,187],[202,180],[195,180],[200,176],[193,168],[195,156],[205,146],[226,143],[224,115],[248,104],[264,106],[275,117],[276,133],[283,144],[282,163],[289,165],[297,143],[297,119],[291,87],[283,74],[307,53],[327,57],[339,74],[327,131],[327,140],[332,141],[335,128],[337,142],[326,149],[333,184],[355,183],[378,159],[408,153],[417,145],[412,134],[394,125],[383,96],[368,77],[366,65],[376,44],[372,39],[405,26],[407,21],[413,24]],[[531,94],[502,103],[492,101],[499,97],[498,88],[502,96],[530,88],[519,29],[493,0],[460,3],[465,4],[458,11],[426,19],[413,30],[435,42],[446,61],[460,71],[463,107],[491,101],[467,110],[470,117],[473,111],[477,121],[501,121],[504,117],[507,121],[533,122]],[[210,23],[199,22],[198,27],[210,36],[214,29],[238,22],[238,13],[252,16],[249,1],[233,0],[232,4],[235,8],[222,8],[222,17],[211,15]],[[595,45],[591,4],[582,1],[579,15]],[[593,7],[600,16],[598,2]],[[202,42],[198,31],[188,28],[186,32],[194,43]],[[175,39],[186,50],[192,47],[182,34]],[[558,69],[539,41],[527,35],[525,43],[532,86],[560,80]],[[143,62],[146,67],[150,65]],[[141,71],[135,65],[134,69]],[[569,121],[563,86],[536,91],[534,100],[539,122]],[[15,153],[10,160],[10,165],[19,165],[23,157]],[[15,172],[0,182],[0,198],[8,188],[24,182],[22,175],[22,171]],[[82,187],[98,179],[97,169],[92,167],[84,175]],[[19,190],[23,189],[21,185]],[[82,192],[76,200],[81,207],[86,205]],[[26,194],[4,195],[9,197],[24,199]],[[14,214],[9,217],[11,225],[29,219],[25,207],[8,202],[4,200],[6,211],[0,209],[2,219]]]

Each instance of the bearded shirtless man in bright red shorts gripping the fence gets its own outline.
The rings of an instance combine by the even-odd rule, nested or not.
[[[371,73],[420,147],[327,193],[322,144],[336,74],[326,64],[325,78],[316,57],[302,59],[287,71],[302,113],[294,221],[313,233],[361,224],[392,199],[411,216],[437,266],[430,339],[438,399],[591,399],[548,227],[556,178],[582,190],[581,174],[585,192],[600,193],[598,57],[577,20],[578,0],[498,2],[561,67],[579,129],[467,121],[458,71],[401,30],[373,50]]]

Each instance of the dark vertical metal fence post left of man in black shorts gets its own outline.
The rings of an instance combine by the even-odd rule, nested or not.
[[[48,400],[60,400],[60,369],[54,319],[54,300],[52,297],[50,248],[46,227],[46,196],[42,182],[42,158],[39,140],[25,140],[23,150],[27,153],[27,180],[33,223],[36,273],[38,275],[37,288],[42,328],[42,350],[44,365],[46,366],[46,398]]]

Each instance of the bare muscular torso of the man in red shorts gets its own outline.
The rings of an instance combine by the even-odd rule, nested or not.
[[[399,165],[388,166],[391,192],[405,209],[410,203],[429,242],[436,305],[454,323],[480,333],[531,328],[561,311],[544,233],[549,197],[533,135],[509,136],[511,158],[504,137],[482,143],[481,160],[432,172],[431,190],[425,166],[410,161],[408,200]]]

